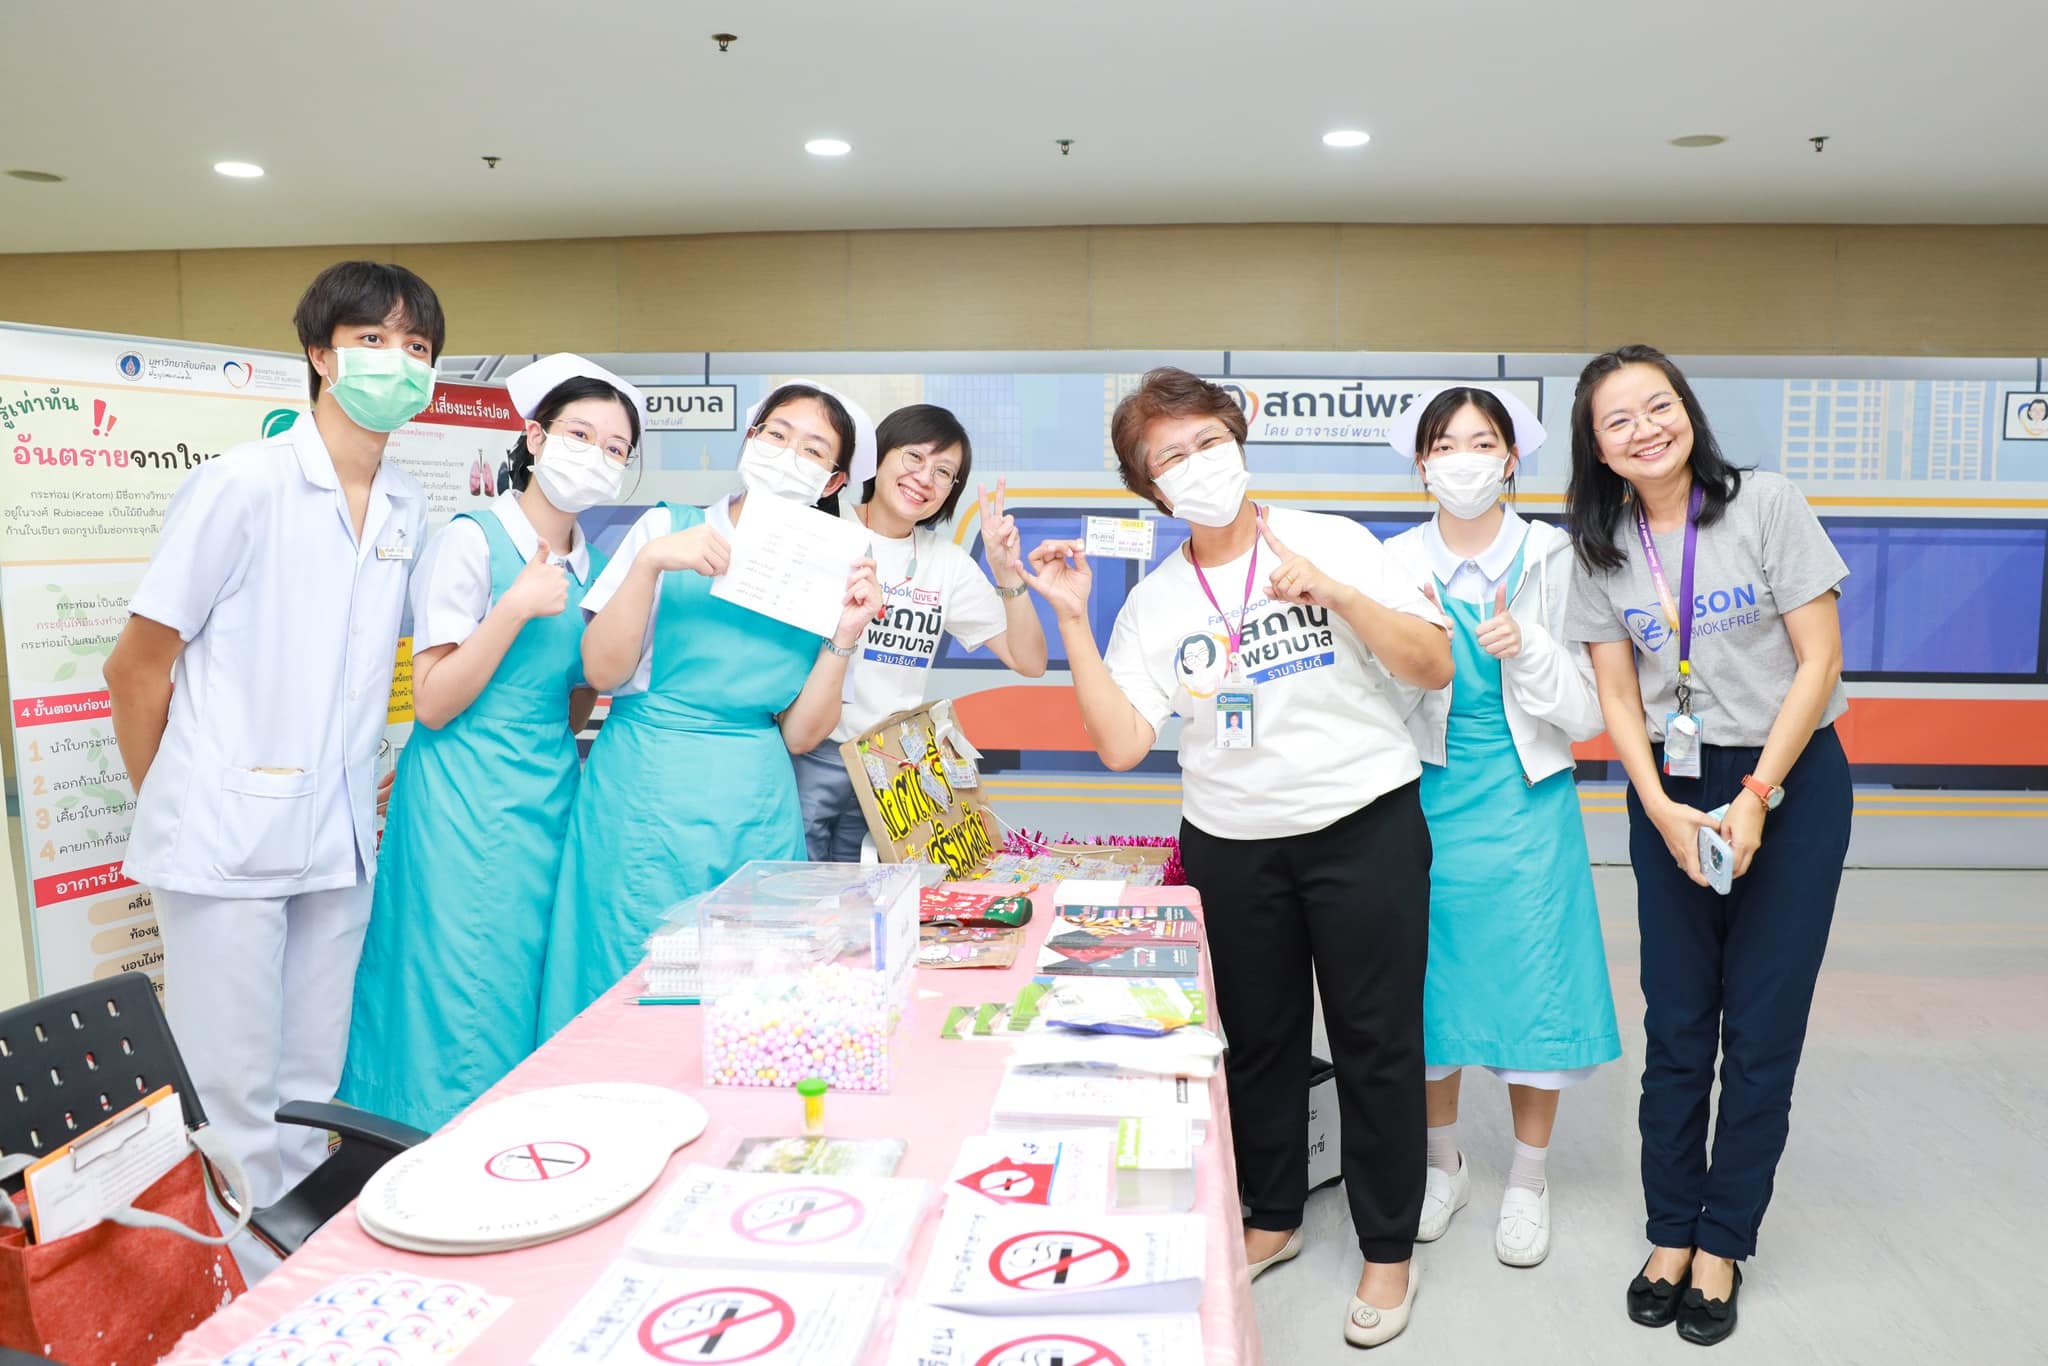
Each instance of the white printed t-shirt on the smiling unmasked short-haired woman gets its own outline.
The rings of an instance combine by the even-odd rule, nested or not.
[[[874,537],[870,551],[885,610],[870,621],[846,661],[840,725],[834,743],[870,729],[883,717],[924,705],[938,659],[940,631],[977,649],[1010,625],[995,584],[950,537],[920,526],[909,537]]]

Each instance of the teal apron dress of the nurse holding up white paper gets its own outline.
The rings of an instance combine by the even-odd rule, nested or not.
[[[672,530],[702,520],[670,508]],[[713,598],[702,573],[664,573],[655,602],[647,690],[612,698],[569,817],[541,1038],[641,961],[676,901],[754,858],[807,856],[776,715],[823,637]]]

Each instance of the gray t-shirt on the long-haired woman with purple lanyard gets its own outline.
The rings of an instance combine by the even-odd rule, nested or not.
[[[1628,561],[1599,573],[1579,567],[1565,633],[1587,643],[1634,641],[1642,717],[1651,739],[1663,739],[1665,717],[1677,711],[1677,635],[1657,602],[1634,512],[1622,514],[1614,539]],[[1657,535],[1673,598],[1681,592],[1683,555],[1683,526]],[[1751,469],[1722,518],[1700,528],[1692,578],[1692,711],[1700,717],[1700,739],[1757,748],[1769,737],[1798,670],[1784,612],[1839,588],[1849,565],[1784,475]],[[1849,696],[1837,682],[1821,725],[1847,709]]]

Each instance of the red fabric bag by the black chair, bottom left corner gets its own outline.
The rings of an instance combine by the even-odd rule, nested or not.
[[[133,1208],[219,1235],[199,1161],[186,1153]],[[55,1243],[0,1229],[0,1346],[63,1366],[147,1366],[244,1288],[225,1247],[168,1229],[100,1221]]]

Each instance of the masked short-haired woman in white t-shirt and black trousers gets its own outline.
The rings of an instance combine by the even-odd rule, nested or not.
[[[1106,659],[1081,543],[1040,545],[1026,582],[1059,618],[1104,764],[1133,768],[1184,717],[1182,862],[1231,1036],[1253,1276],[1300,1251],[1315,973],[1366,1255],[1343,1335],[1376,1346],[1415,1303],[1423,1196],[1430,831],[1395,680],[1448,684],[1450,641],[1364,526],[1251,504],[1243,440],[1237,401],[1186,371],[1153,371],[1116,405],[1124,487],[1184,518],[1190,539],[1130,592]]]

